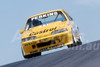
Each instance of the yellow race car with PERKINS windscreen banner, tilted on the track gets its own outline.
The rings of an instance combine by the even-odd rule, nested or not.
[[[68,13],[61,9],[28,18],[20,34],[24,58],[39,56],[50,49],[82,44],[78,27]]]

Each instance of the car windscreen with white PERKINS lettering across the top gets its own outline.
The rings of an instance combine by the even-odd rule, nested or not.
[[[27,21],[26,24],[26,30],[29,30],[29,28],[43,25],[43,24],[48,24],[56,21],[65,21],[65,17],[61,11],[56,11],[56,12],[51,12],[51,13],[46,13],[43,15],[39,15],[33,18],[30,18]]]

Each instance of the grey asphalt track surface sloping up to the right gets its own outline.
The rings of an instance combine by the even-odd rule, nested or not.
[[[1,67],[100,67],[100,41]]]

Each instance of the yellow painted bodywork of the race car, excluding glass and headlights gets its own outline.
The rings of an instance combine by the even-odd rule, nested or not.
[[[55,11],[61,11],[63,15],[65,16],[66,21],[56,21],[56,22],[49,23],[48,25],[45,25],[45,26],[36,26],[36,27],[30,28],[27,31],[25,31],[24,29],[20,32],[22,34],[22,39],[33,37],[33,36],[37,38],[34,40],[21,42],[24,55],[30,55],[30,54],[34,54],[38,52],[43,52],[46,50],[63,47],[63,46],[70,45],[73,43],[71,26],[69,25],[70,20],[65,15],[66,12],[64,10],[48,11],[48,12],[44,12],[38,15],[34,15],[30,18],[39,16],[42,14],[50,13],[50,12],[55,12]],[[60,29],[67,29],[67,31],[52,35],[53,31],[60,30]]]

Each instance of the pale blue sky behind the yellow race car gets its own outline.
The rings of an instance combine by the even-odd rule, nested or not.
[[[100,0],[0,0],[0,66],[24,60],[19,31],[27,18],[55,9],[64,9],[74,19],[83,43],[100,39]]]

